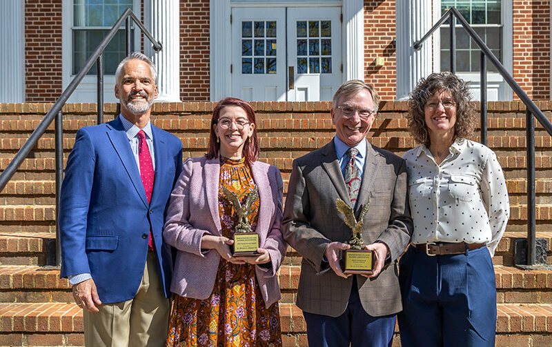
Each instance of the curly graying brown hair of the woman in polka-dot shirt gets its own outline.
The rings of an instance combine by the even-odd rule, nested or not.
[[[429,147],[430,140],[424,108],[435,92],[448,90],[456,103],[454,139],[471,137],[475,129],[475,106],[471,103],[468,83],[451,72],[438,72],[420,79],[408,100],[408,128],[417,143]]]

